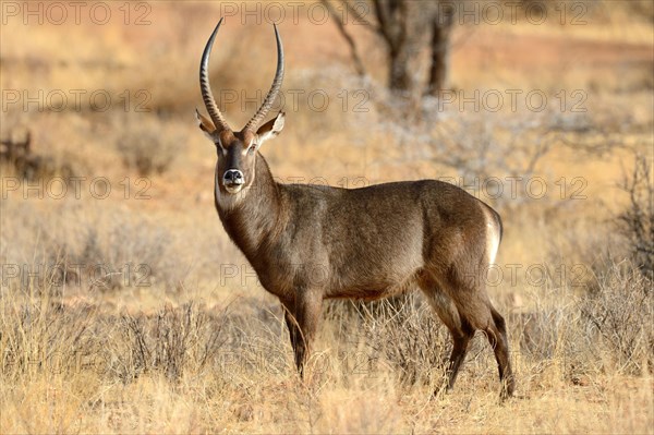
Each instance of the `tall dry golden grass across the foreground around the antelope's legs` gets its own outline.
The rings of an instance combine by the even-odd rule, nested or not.
[[[0,306],[3,432],[646,433],[651,282],[608,273],[591,301],[510,316],[520,387],[504,406],[484,337],[457,390],[433,397],[449,340],[421,300],[329,310],[301,383],[270,301],[112,314],[15,293]]]

